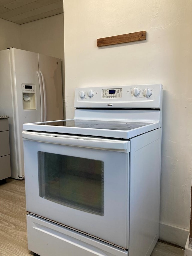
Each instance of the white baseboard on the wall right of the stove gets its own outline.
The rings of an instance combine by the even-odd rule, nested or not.
[[[160,223],[159,239],[185,248],[189,230]],[[192,255],[191,255],[192,256]]]

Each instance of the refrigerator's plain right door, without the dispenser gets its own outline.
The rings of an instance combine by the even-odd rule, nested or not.
[[[38,54],[38,57],[44,91],[45,121],[62,120],[64,117],[61,60],[42,54]]]

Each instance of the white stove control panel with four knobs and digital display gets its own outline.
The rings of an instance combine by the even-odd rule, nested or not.
[[[161,108],[161,84],[76,88],[76,108]]]

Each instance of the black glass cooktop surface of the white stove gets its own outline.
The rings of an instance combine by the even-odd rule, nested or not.
[[[94,120],[79,120],[69,119],[56,122],[40,123],[40,125],[54,125],[61,127],[76,127],[76,128],[94,128],[94,129],[108,129],[129,131],[135,128],[149,125],[151,123],[137,123],[137,122],[116,122],[116,121],[94,121]]]

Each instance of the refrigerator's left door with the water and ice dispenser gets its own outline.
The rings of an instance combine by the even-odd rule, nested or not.
[[[22,124],[40,122],[41,102],[37,76],[38,53],[10,48],[13,136],[10,136],[11,177],[24,178]],[[26,89],[25,89],[26,88]],[[34,92],[31,93],[32,89]],[[30,98],[31,97],[31,98]],[[31,103],[30,103],[31,101]],[[10,120],[11,121],[11,120]]]

